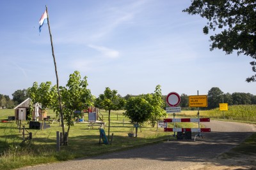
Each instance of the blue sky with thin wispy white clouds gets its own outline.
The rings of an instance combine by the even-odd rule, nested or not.
[[[77,0],[0,2],[0,94],[56,84],[48,27],[38,21],[47,5],[60,85],[79,71],[96,97],[106,87],[122,96],[152,93],[256,95],[252,58],[209,51],[207,20],[183,13],[190,1]]]

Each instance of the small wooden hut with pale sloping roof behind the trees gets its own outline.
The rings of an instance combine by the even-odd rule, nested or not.
[[[15,120],[28,120],[29,114],[31,114],[31,108],[29,106],[30,103],[31,99],[28,98],[14,108]],[[38,108],[38,113],[35,112],[36,108]],[[32,120],[36,120],[36,118],[38,118],[38,120],[47,118],[47,111],[43,111],[40,104],[33,104]]]

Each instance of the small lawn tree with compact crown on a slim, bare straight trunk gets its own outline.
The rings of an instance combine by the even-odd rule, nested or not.
[[[118,96],[117,90],[111,90],[106,87],[104,94],[100,94],[97,98],[97,103],[100,108],[108,111],[108,141],[109,141],[109,131],[110,131],[110,112],[111,110],[120,110],[124,107],[125,100]]]

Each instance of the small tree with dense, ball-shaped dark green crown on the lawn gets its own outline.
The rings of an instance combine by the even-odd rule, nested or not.
[[[125,117],[131,119],[133,124],[143,124],[152,113],[152,105],[143,96],[131,97],[125,104]],[[136,129],[137,136],[138,129]]]

